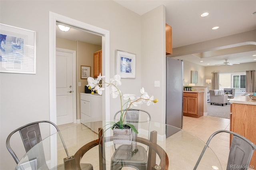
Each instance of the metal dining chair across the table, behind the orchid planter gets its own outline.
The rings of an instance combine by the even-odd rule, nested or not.
[[[123,110],[126,111],[126,110]],[[122,111],[122,112],[123,112]],[[121,111],[118,111],[114,115],[114,119],[116,119],[116,116],[120,114]],[[126,123],[131,123],[134,125],[136,129],[138,129],[138,123],[142,120],[139,120],[139,117],[143,117],[145,121],[149,121],[149,127],[148,127],[148,138],[150,136],[150,122],[151,122],[151,116],[147,111],[141,110],[141,109],[128,109],[126,112]],[[133,132],[132,140],[136,140],[137,134]],[[136,144],[122,144],[116,148],[116,145],[114,144],[115,152],[111,158],[111,170],[119,170],[122,167],[130,166],[133,168],[136,168],[138,170],[146,170],[147,164],[148,164],[148,156],[147,156],[147,150],[140,145]]]

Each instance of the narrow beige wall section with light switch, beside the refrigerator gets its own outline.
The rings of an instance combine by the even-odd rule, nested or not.
[[[152,32],[154,34],[152,34]],[[155,105],[142,105],[150,111],[152,121],[165,123],[166,108],[166,55],[165,55],[165,8],[159,6],[142,16],[142,87],[154,98]],[[160,87],[154,87],[160,81]]]

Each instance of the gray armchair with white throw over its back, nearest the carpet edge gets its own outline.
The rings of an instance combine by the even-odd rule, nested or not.
[[[210,92],[210,103],[211,105],[216,103],[216,104],[221,104],[222,106],[224,104],[227,105],[228,103],[228,95],[226,95],[223,91],[223,93],[215,93],[215,91],[220,92],[220,90],[209,90]]]

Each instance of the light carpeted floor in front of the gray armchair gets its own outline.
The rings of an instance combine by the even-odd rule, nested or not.
[[[230,105],[211,105],[210,103],[207,103],[207,112],[209,116],[213,117],[221,117],[230,119]]]

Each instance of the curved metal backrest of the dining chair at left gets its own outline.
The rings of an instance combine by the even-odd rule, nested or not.
[[[28,152],[33,146],[35,146],[36,144],[38,144],[39,142],[42,141],[42,137],[41,137],[41,132],[40,132],[40,128],[39,128],[39,123],[50,123],[51,125],[53,125],[56,130],[58,132],[60,132],[59,128],[52,122],[50,121],[37,121],[37,122],[33,122],[33,123],[28,123],[27,125],[24,125],[22,127],[17,128],[16,130],[12,131],[7,139],[6,139],[6,147],[7,150],[10,152],[10,154],[12,155],[12,157],[14,158],[16,164],[18,164],[18,162],[20,161],[18,159],[18,157],[16,156],[15,152],[12,150],[11,146],[10,146],[10,138],[11,136],[15,133],[15,132],[20,132],[20,136],[22,138],[24,147],[26,152]],[[59,133],[62,144],[64,146],[64,149],[66,151],[67,156],[69,156],[68,154],[68,150],[66,148],[66,145],[64,143],[64,140],[62,138],[62,135]]]

